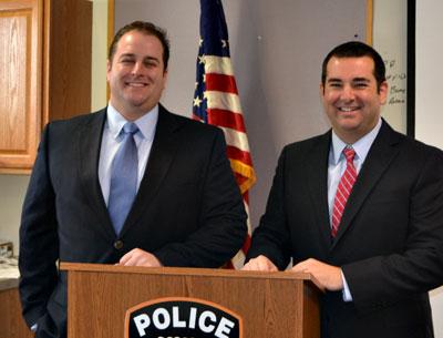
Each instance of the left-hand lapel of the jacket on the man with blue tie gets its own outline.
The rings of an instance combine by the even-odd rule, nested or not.
[[[86,120],[84,124],[80,125],[75,142],[79,144],[79,177],[84,196],[89,199],[89,204],[96,213],[103,233],[105,233],[107,237],[114,238],[114,229],[107,214],[99,181],[100,147],[105,119],[106,109],[91,114],[90,119]]]

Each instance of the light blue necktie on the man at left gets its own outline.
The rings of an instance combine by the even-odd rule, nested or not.
[[[138,156],[134,134],[135,123],[127,122],[122,131],[123,141],[111,166],[111,186],[107,211],[115,234],[119,235],[137,193]]]

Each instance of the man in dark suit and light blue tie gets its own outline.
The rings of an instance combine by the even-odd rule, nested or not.
[[[219,267],[243,245],[246,214],[223,132],[158,104],[168,57],[163,30],[124,27],[110,47],[109,106],[44,130],[20,228],[20,295],[35,337],[66,335],[66,276],[58,260]],[[122,181],[113,158],[131,122],[136,174],[113,195]],[[131,182],[135,198],[116,213],[124,214],[117,227],[111,199]]]

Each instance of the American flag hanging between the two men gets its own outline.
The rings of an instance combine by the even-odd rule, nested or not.
[[[248,236],[230,267],[240,268],[250,245],[249,188],[256,181],[240,100],[229,55],[228,30],[220,0],[200,0],[200,39],[193,117],[225,133],[227,155],[248,214]]]

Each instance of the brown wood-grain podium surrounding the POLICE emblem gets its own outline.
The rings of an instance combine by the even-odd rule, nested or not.
[[[320,337],[320,291],[309,274],[71,263],[61,269],[68,272],[68,338],[123,338],[127,309],[165,297],[231,310],[243,319],[241,338]]]

